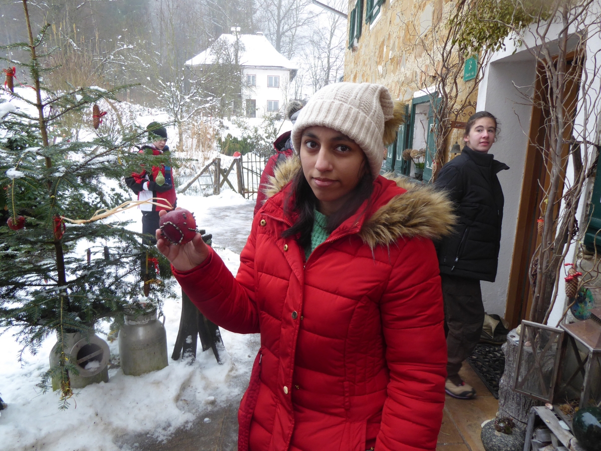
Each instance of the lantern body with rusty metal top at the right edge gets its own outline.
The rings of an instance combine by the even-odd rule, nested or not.
[[[591,318],[562,324],[566,331],[558,375],[558,399],[580,399],[579,407],[601,407],[601,308]]]

